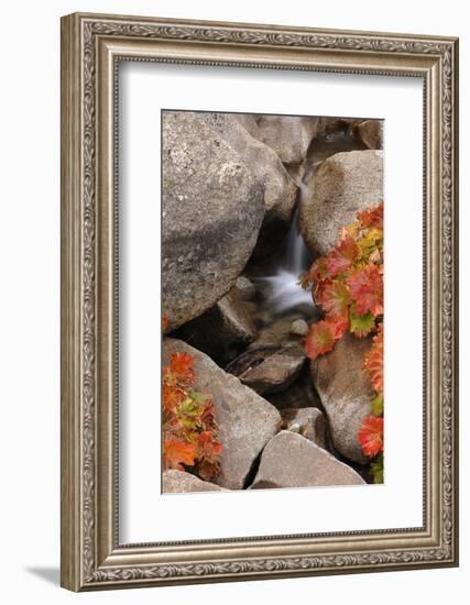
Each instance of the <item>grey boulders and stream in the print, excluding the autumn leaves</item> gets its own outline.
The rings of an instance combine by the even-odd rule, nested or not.
[[[382,197],[381,150],[375,120],[164,112],[163,363],[192,355],[222,443],[211,483],[166,470],[164,492],[371,482],[370,341],[308,360],[298,278]]]

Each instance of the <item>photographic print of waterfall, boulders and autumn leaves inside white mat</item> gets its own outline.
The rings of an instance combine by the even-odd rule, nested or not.
[[[162,111],[163,493],[384,482],[383,131]]]

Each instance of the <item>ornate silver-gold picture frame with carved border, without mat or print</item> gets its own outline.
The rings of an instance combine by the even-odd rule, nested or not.
[[[424,525],[119,544],[116,66],[200,63],[424,81]],[[62,20],[62,585],[73,591],[458,564],[458,41],[72,14]]]

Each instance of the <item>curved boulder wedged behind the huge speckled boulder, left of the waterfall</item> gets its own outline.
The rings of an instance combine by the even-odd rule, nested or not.
[[[204,112],[199,116],[243,157],[254,180],[263,188],[265,216],[254,255],[265,256],[276,249],[289,227],[297,185],[274,151],[253,138],[238,114]]]

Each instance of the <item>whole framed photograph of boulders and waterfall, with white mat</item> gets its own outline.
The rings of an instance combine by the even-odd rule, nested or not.
[[[62,20],[62,585],[458,564],[458,41]]]

